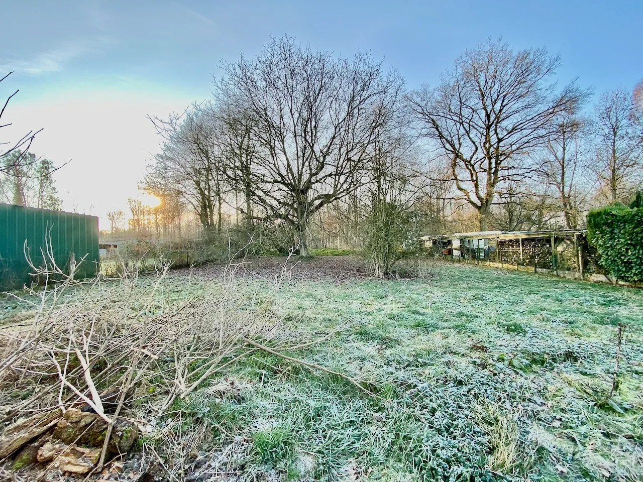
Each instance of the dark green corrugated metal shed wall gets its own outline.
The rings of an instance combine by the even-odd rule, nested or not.
[[[91,278],[98,269],[98,218],[0,203],[0,290],[36,281],[24,257],[26,240],[32,261],[43,265],[41,248],[51,238],[57,265],[67,272],[70,253],[76,262],[87,254],[75,278]]]

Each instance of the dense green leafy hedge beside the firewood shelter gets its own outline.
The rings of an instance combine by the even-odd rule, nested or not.
[[[643,208],[607,206],[587,216],[588,241],[599,265],[622,281],[643,281]]]

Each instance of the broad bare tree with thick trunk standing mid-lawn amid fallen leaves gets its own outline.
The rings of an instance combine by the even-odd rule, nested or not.
[[[268,217],[287,222],[306,254],[309,219],[361,181],[403,82],[385,75],[370,55],[333,58],[291,37],[273,39],[254,60],[241,57],[222,68],[215,91],[246,112],[258,146],[253,201]]]

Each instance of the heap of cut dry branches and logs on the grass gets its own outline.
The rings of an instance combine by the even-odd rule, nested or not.
[[[47,280],[55,271],[33,268]],[[22,298],[30,317],[0,326],[5,475],[100,474],[204,380],[278,342],[269,300],[238,294],[233,268],[179,301],[165,298],[167,271],[90,283],[71,274]]]

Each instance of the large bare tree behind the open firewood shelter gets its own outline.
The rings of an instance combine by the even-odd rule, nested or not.
[[[449,158],[482,230],[498,186],[530,175],[527,154],[545,145],[556,116],[587,94],[574,84],[558,91],[551,78],[560,63],[545,49],[514,52],[489,40],[458,58],[438,87],[410,96],[423,134]]]

